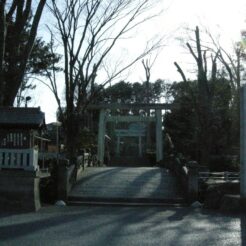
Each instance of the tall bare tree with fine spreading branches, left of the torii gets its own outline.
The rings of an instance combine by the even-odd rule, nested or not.
[[[51,90],[59,105],[71,157],[76,146],[78,118],[91,99],[100,88],[160,46],[161,39],[147,44],[141,54],[124,66],[119,66],[111,76],[98,82],[100,86],[97,90],[91,91],[98,73],[104,67],[103,62],[112,55],[116,44],[137,26],[155,16],[147,15],[153,3],[148,0],[63,0],[59,5],[55,0],[51,2],[49,8],[56,19],[59,34],[59,38],[56,38],[63,47],[65,112],[61,110],[55,81],[52,81]]]

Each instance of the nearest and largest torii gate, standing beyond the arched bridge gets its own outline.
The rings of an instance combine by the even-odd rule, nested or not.
[[[97,156],[100,164],[104,161],[105,131],[107,122],[156,122],[156,161],[163,159],[163,139],[162,139],[162,110],[170,109],[170,104],[98,104],[89,105],[89,109],[100,109],[99,129],[98,129],[98,150]],[[132,109],[132,110],[155,110],[155,116],[110,116],[107,109]]]

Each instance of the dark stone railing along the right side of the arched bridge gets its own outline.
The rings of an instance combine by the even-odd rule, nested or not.
[[[196,201],[198,198],[198,164],[195,161],[187,163],[182,162],[179,158],[174,158],[174,173],[183,189],[185,198],[188,202]]]

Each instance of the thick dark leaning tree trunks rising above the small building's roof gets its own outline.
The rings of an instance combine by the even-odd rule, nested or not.
[[[34,8],[32,0],[0,1],[1,106],[13,105],[24,80],[45,3],[40,0]]]

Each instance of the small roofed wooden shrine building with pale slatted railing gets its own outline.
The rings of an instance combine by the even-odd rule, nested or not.
[[[0,169],[36,171],[38,142],[45,127],[40,108],[0,108]]]

